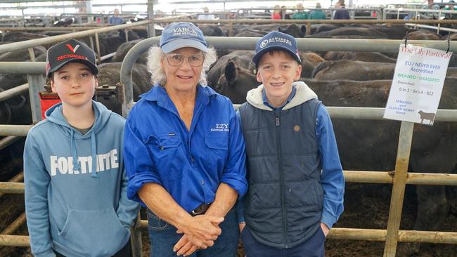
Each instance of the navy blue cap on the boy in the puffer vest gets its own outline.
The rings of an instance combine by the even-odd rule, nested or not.
[[[300,55],[298,53],[297,41],[289,34],[283,32],[273,31],[266,34],[255,45],[255,55],[252,57],[252,62],[259,65],[259,60],[264,53],[269,51],[281,50],[290,53],[298,63],[302,64]]]

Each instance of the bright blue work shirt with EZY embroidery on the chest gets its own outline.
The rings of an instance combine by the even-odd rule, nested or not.
[[[228,98],[198,86],[188,130],[165,88],[140,97],[124,132],[129,199],[141,202],[137,193],[145,183],[162,185],[188,212],[213,202],[220,183],[245,195],[245,142]]]

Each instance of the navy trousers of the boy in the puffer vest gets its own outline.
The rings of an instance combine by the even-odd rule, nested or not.
[[[278,249],[271,246],[267,246],[258,242],[252,237],[249,229],[245,227],[241,232],[241,240],[245,248],[246,257],[323,257],[324,254],[324,243],[326,242],[326,236],[323,235],[321,228],[307,241],[299,244],[295,247],[288,249]]]

